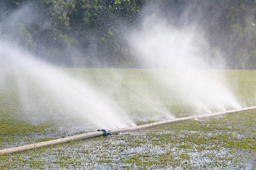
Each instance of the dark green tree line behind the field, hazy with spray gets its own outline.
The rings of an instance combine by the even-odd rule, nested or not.
[[[146,8],[177,29],[196,24],[211,57],[256,66],[254,0],[3,0],[0,39],[61,66],[137,66],[123,35],[140,29]]]

